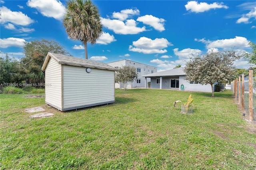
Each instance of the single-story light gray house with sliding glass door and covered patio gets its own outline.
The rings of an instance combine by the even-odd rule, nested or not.
[[[212,87],[210,84],[201,85],[196,82],[188,82],[185,80],[186,74],[182,67],[142,75],[142,77],[145,77],[145,79],[150,78],[150,88],[154,89],[176,89],[212,93]],[[145,88],[146,87],[147,82],[145,81]]]

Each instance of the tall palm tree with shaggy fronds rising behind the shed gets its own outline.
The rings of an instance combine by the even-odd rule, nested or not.
[[[85,59],[88,59],[87,42],[94,44],[102,35],[102,24],[97,6],[90,0],[68,1],[63,25],[72,40],[84,43]]]

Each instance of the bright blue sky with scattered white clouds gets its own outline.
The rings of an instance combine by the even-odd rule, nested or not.
[[[62,25],[67,1],[0,0],[0,51],[23,57],[23,44],[55,40],[74,57],[84,47],[68,38]],[[103,35],[88,44],[88,59],[109,63],[130,59],[158,67],[185,66],[192,55],[208,50],[251,51],[256,43],[256,1],[93,0]],[[235,62],[248,69],[244,59]]]

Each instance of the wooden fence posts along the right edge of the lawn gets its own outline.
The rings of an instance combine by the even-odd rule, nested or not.
[[[254,117],[254,115],[253,115],[253,112],[254,112],[253,95],[254,94],[253,93],[256,93],[253,90],[253,76],[252,75],[253,75],[253,70],[250,69],[249,75],[248,75],[249,88],[248,88],[248,91],[246,90],[246,93],[249,93],[249,95],[246,95],[246,97],[249,98],[249,99],[246,99],[246,104],[248,102],[248,105],[249,105],[249,107],[248,107],[248,117],[249,117],[248,119],[249,120],[254,120],[253,119],[253,117]],[[244,108],[244,105],[245,105],[244,84],[245,84],[245,82],[247,82],[247,81],[244,80],[244,74],[242,74],[242,76],[239,76],[237,79],[235,79],[231,83],[231,86],[233,87],[232,91],[234,92],[235,99],[237,99],[238,103],[241,104],[243,111],[245,110],[245,108]]]

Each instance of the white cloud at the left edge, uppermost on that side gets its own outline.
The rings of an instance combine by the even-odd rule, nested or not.
[[[5,6],[2,6],[0,10],[2,14],[4,14],[4,17],[2,16],[1,19],[1,24],[10,22],[18,26],[28,26],[29,24],[32,24],[34,22],[34,20],[32,20],[30,17],[20,11],[14,12],[6,8]]]

